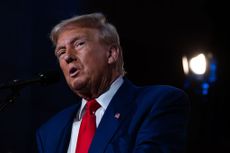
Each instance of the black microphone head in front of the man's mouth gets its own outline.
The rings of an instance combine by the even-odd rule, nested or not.
[[[61,74],[57,70],[50,70],[39,73],[39,80],[42,85],[50,85],[60,81]]]

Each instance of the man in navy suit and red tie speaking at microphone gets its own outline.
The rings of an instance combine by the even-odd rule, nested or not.
[[[40,153],[185,152],[187,95],[131,83],[117,30],[102,13],[62,21],[51,40],[66,82],[82,100],[38,129]],[[90,103],[98,107],[90,111]]]

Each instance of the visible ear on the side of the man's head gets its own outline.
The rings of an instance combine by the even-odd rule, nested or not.
[[[110,46],[108,52],[108,64],[115,63],[118,60],[119,54],[120,54],[119,47],[115,45]]]

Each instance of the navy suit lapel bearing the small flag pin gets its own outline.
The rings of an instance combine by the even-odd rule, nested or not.
[[[129,112],[136,88],[125,79],[123,85],[114,95],[97,128],[89,153],[104,152],[123,119]]]

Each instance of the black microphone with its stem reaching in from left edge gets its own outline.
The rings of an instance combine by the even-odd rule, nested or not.
[[[28,80],[13,80],[7,83],[0,84],[2,89],[20,89],[28,85],[38,84],[49,85],[60,80],[60,72],[52,70],[44,73],[39,73],[37,77]]]

